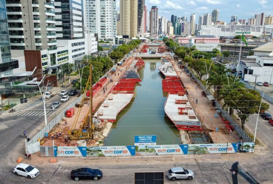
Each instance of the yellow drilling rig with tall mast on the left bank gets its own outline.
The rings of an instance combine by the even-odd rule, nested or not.
[[[90,83],[90,84],[89,84]],[[83,101],[86,97],[86,92],[89,84],[89,90],[90,90],[90,108],[84,117],[82,121],[78,121],[79,115],[81,113],[82,107],[83,107]],[[79,108],[76,113],[76,117],[74,119],[73,125],[71,129],[69,129],[68,134],[70,136],[70,139],[90,139],[92,138],[92,133],[95,128],[94,124],[92,123],[92,65],[90,65],[90,75],[87,80],[87,84],[85,86],[85,90],[83,92],[83,98],[80,102]],[[80,126],[77,127],[78,123],[80,123]]]

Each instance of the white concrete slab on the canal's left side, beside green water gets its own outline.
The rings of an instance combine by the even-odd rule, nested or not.
[[[113,100],[109,100],[109,95],[113,97]],[[118,93],[109,94],[105,101],[101,104],[100,108],[96,112],[95,116],[98,119],[104,120],[115,120],[119,112],[126,107],[131,99],[133,98],[133,93]],[[108,107],[104,107],[103,104],[108,104]],[[103,115],[98,116],[98,113],[102,111]]]

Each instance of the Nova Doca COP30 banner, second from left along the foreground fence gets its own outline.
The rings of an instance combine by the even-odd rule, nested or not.
[[[87,147],[87,157],[134,156],[135,146],[97,146]]]

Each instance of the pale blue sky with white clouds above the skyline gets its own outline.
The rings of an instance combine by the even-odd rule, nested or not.
[[[145,5],[150,11],[152,6],[158,7],[158,15],[171,20],[171,15],[186,16],[188,21],[190,14],[196,13],[196,20],[199,15],[209,13],[213,9],[219,9],[219,20],[230,22],[230,17],[235,14],[238,19],[248,19],[255,14],[262,12],[266,16],[273,16],[273,0],[145,0]],[[117,0],[119,11],[119,0]]]

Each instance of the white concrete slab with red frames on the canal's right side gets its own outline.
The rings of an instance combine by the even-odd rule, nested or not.
[[[184,96],[178,96],[178,94],[169,94],[168,98],[166,99],[165,103],[165,113],[167,116],[174,122],[174,121],[192,121],[192,122],[199,122],[195,115],[195,119],[190,119],[188,115],[179,115],[178,114],[178,108],[185,108],[186,104],[176,104],[175,99],[182,99],[187,98],[186,95]],[[187,105],[190,105],[190,102],[188,100]],[[194,110],[188,110],[189,113],[195,113]]]

